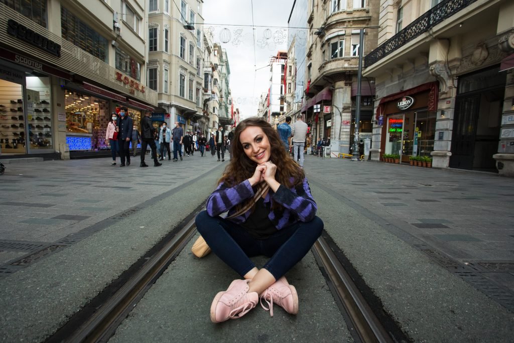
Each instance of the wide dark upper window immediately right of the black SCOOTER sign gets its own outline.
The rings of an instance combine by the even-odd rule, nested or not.
[[[108,62],[108,41],[79,17],[61,6],[62,38],[94,57]]]

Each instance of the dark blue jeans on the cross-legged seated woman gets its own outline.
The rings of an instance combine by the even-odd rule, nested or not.
[[[263,268],[276,280],[307,254],[323,231],[323,221],[317,216],[308,223],[277,230],[264,240],[253,238],[243,227],[220,216],[211,217],[207,211],[198,213],[195,222],[214,254],[236,273],[244,276],[255,267],[249,257],[264,255],[271,259]]]

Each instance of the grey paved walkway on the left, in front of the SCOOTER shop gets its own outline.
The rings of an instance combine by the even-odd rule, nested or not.
[[[111,166],[111,158],[7,165],[0,176],[0,265],[51,242],[66,244],[67,237],[84,236],[81,230],[95,224],[98,230],[105,219],[190,187],[222,164],[199,153],[161,161],[161,167],[145,159],[148,168],[139,168],[139,156],[128,167]]]

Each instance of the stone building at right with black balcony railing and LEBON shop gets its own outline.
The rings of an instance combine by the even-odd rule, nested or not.
[[[365,58],[376,80],[372,159],[514,176],[514,3],[380,2],[379,46]]]

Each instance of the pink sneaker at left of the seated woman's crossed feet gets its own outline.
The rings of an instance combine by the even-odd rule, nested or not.
[[[234,280],[225,292],[216,294],[211,304],[212,322],[243,317],[257,305],[259,295],[248,293],[248,282],[250,280]]]

